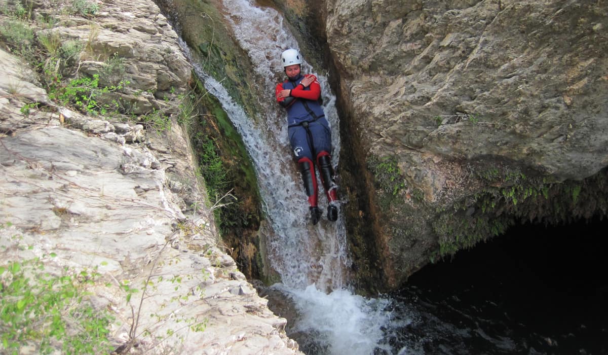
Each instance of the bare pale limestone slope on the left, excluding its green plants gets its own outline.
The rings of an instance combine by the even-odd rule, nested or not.
[[[153,2],[100,9],[54,28],[63,40],[93,38],[81,71],[103,68],[97,60],[115,51],[135,78],[122,94],[137,110],[187,90],[191,67]],[[299,353],[286,320],[221,249],[173,116],[157,133],[78,113],[50,99],[21,58],[0,49],[0,62],[0,264],[40,258],[58,275],[95,270],[84,301],[116,319],[114,348],[134,340],[134,353]]]

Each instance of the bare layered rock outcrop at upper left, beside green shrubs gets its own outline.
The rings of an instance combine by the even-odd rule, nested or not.
[[[130,82],[113,97],[130,114],[158,110],[165,97],[182,93],[190,79],[192,67],[181,53],[178,35],[153,3],[106,1],[94,21],[67,15],[56,20],[58,26],[40,30],[38,36],[85,43],[78,70],[100,74],[102,87]]]

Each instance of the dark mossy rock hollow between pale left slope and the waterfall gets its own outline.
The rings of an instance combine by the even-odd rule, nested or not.
[[[263,212],[254,165],[221,103],[197,84],[199,119],[192,122],[191,141],[215,204],[216,225],[240,270],[263,279],[258,236]]]

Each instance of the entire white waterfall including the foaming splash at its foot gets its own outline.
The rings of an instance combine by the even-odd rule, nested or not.
[[[381,329],[390,320],[390,312],[384,311],[389,301],[365,299],[348,290],[345,270],[351,261],[343,216],[336,222],[323,218],[311,225],[306,195],[291,156],[286,113],[274,97],[275,85],[285,77],[280,54],[299,46],[276,10],[257,7],[248,0],[224,0],[223,5],[235,37],[249,54],[258,76],[258,82],[250,87],[257,88],[255,94],[268,109],[255,119],[247,117],[221,82],[207,75],[196,62],[193,65],[206,89],[223,105],[253,160],[269,222],[261,233],[265,234],[268,259],[282,279],[274,287],[294,300],[301,314],[295,328],[315,334],[314,343],[323,353],[371,354],[384,348],[379,344]],[[189,56],[187,46],[183,47]],[[315,72],[305,61],[302,72],[315,74],[322,86],[325,116],[333,127],[331,155],[337,170],[340,136],[336,98],[325,75]],[[319,192],[319,204],[326,207],[322,188]]]

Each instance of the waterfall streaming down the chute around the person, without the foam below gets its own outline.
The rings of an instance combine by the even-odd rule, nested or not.
[[[309,222],[306,195],[288,142],[286,113],[274,97],[277,82],[285,78],[280,55],[285,49],[297,49],[297,43],[276,10],[261,9],[246,0],[224,0],[223,5],[238,43],[249,54],[252,69],[260,77],[255,94],[268,108],[257,119],[257,127],[242,110],[233,110],[230,119],[243,135],[257,169],[264,212],[272,227],[266,236],[272,267],[288,287],[304,289],[310,284],[321,290],[345,287],[343,270],[350,261],[344,218],[339,217],[335,223],[323,219],[315,226]],[[327,77],[314,72],[306,58],[302,72],[315,74],[321,84],[325,116],[333,127],[331,155],[337,170],[340,136],[336,97],[331,93]],[[221,89],[214,85],[210,91],[216,94]],[[220,95],[222,102],[230,100],[225,93]],[[319,205],[326,208],[323,189],[319,190]]]

